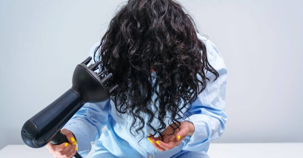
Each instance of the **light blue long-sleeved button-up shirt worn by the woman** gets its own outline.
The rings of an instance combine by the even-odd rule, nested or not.
[[[187,136],[179,146],[160,152],[152,146],[148,139],[143,138],[138,143],[139,139],[132,137],[129,131],[132,117],[127,114],[122,114],[120,117],[114,102],[86,103],[63,127],[75,135],[78,152],[82,156],[86,156],[91,150],[92,142],[95,142],[93,155],[164,158],[186,150],[207,152],[210,141],[221,136],[227,121],[227,116],[223,111],[227,71],[223,58],[215,45],[199,34],[198,37],[205,42],[208,61],[220,76],[212,82],[214,75],[206,73],[211,81],[207,82],[205,90],[198,95],[191,109],[186,113],[189,117],[184,119],[191,121],[195,126],[192,136]],[[91,48],[90,56],[94,57],[94,50],[98,44]],[[93,61],[89,64],[92,63]],[[151,102],[151,104],[154,103]],[[154,120],[152,125],[156,126],[158,122],[157,119]],[[102,131],[104,126],[106,126],[106,130]],[[146,124],[143,130],[145,135],[151,132]]]

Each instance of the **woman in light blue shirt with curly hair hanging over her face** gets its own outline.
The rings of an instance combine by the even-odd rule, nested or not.
[[[65,125],[55,157],[208,157],[225,128],[226,67],[173,0],[129,0],[89,53],[118,90]],[[93,63],[93,61],[91,62]],[[106,126],[106,130],[102,128]]]

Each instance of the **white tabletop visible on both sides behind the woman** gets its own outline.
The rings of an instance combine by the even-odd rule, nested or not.
[[[211,143],[211,158],[302,158],[303,143]],[[33,149],[26,145],[7,145],[0,157],[52,158],[45,147]]]

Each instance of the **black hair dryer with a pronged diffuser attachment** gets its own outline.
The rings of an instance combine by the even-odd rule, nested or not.
[[[107,88],[105,83],[112,77],[108,74],[100,79],[98,69],[100,61],[87,67],[92,60],[88,57],[75,68],[72,88],[58,99],[27,120],[21,129],[21,137],[26,145],[32,148],[44,147],[48,142],[58,145],[68,142],[61,128],[86,103],[107,101],[118,85]],[[76,158],[82,158],[78,153]]]

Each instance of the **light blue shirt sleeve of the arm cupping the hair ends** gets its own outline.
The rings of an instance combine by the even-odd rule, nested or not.
[[[208,151],[211,140],[220,137],[225,129],[227,116],[223,111],[225,108],[225,87],[227,70],[220,52],[209,40],[206,42],[208,60],[211,66],[219,73],[218,79],[215,75],[206,73],[209,82],[206,88],[198,95],[191,109],[186,113],[188,119],[195,126],[193,135],[187,136],[184,141],[183,150]]]

